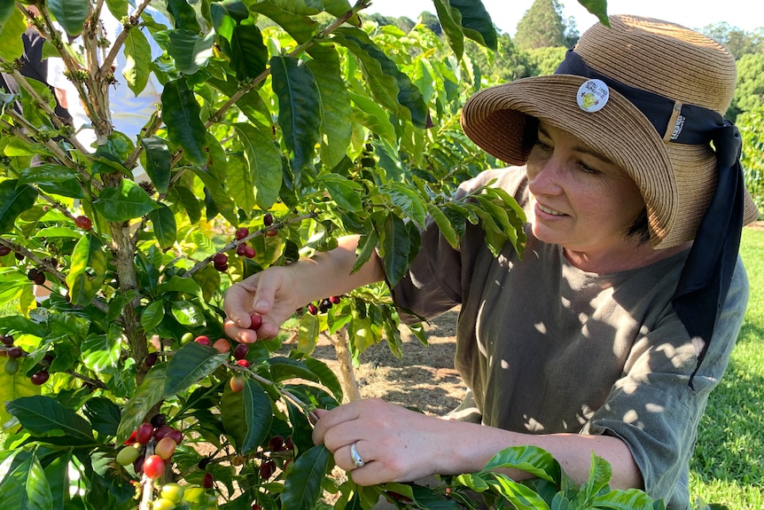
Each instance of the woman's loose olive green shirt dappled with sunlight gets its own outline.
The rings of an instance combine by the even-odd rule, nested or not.
[[[498,178],[526,205],[524,169],[484,172],[460,192]],[[494,257],[468,224],[458,250],[437,228],[422,233],[409,274],[394,287],[401,310],[425,318],[461,304],[456,369],[482,423],[528,434],[607,434],[628,444],[652,498],[689,508],[689,460],[708,394],[724,373],[745,314],[748,282],[738,259],[706,358],[671,297],[688,251],[640,269],[581,271],[562,248],[510,243]],[[401,318],[416,318],[401,311]]]

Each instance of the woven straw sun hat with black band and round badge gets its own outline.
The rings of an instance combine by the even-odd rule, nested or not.
[[[524,165],[530,153],[528,116],[581,138],[634,179],[652,246],[673,247],[695,238],[716,189],[709,133],[732,100],[735,59],[706,35],[666,21],[615,15],[610,24],[581,35],[555,75],[474,94],[462,128],[511,165]],[[748,224],[758,211],[744,194]]]

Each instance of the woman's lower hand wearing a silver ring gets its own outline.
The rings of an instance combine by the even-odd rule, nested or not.
[[[378,399],[359,400],[319,417],[313,442],[324,443],[334,462],[359,485],[413,482],[444,473],[441,459],[448,458],[450,442],[444,441],[448,421],[409,411]],[[356,466],[351,447],[360,466]]]

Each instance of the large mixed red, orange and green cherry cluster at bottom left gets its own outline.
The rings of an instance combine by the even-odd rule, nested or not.
[[[143,473],[156,480],[164,474],[166,463],[182,441],[183,433],[170,427],[164,414],[155,414],[150,422],[141,423],[125,441],[125,446],[117,453],[117,462],[121,466],[132,464],[136,475]],[[149,450],[153,452],[146,456]]]

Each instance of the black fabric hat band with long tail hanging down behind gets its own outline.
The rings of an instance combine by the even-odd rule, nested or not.
[[[677,105],[674,100],[597,73],[573,50],[567,51],[555,75],[602,80],[636,106],[655,126],[660,137],[664,137],[669,129],[668,122]],[[727,298],[737,264],[743,230],[745,184],[740,165],[742,141],[732,122],[713,110],[695,105],[682,105],[678,119],[680,121],[671,126],[673,132],[669,141],[687,145],[713,142],[718,169],[713,199],[698,226],[695,242],[671,298],[674,311],[690,333],[690,338],[703,341],[698,365],[690,374],[690,388],[694,389],[692,380],[706,357],[716,318]]]

